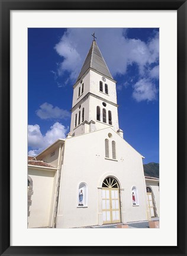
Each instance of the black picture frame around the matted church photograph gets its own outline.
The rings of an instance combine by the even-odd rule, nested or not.
[[[186,77],[187,2],[183,0],[0,0],[1,17],[1,255],[187,255],[186,250]],[[177,10],[178,15],[178,245],[177,246],[10,246],[10,11]],[[18,160],[19,161],[19,160]],[[169,173],[169,170],[166,170]],[[170,206],[172,207],[172,206]]]

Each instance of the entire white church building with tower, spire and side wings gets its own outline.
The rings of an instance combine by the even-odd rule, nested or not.
[[[73,86],[70,132],[28,158],[28,227],[86,227],[159,216],[159,179],[123,138],[116,81],[92,42]]]

